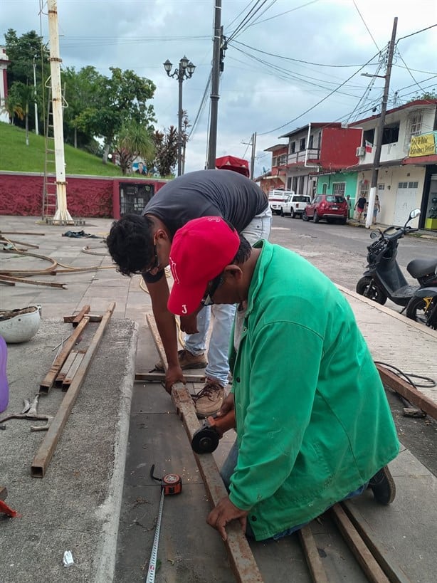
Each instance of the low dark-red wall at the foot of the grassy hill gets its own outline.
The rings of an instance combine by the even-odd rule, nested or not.
[[[67,178],[67,206],[70,215],[120,219],[120,182],[153,183],[155,193],[166,180],[138,180],[112,177]],[[41,216],[43,176],[0,172],[0,214],[12,216]]]

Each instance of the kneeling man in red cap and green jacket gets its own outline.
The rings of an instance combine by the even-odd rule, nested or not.
[[[175,314],[201,302],[238,305],[231,336],[236,443],[222,468],[228,496],[208,522],[226,540],[239,520],[279,538],[369,488],[394,499],[386,464],[399,441],[384,387],[352,309],[293,251],[254,248],[218,217],[189,221],[170,251]],[[345,355],[347,354],[347,357]]]

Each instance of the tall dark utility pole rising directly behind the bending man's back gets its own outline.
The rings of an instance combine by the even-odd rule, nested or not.
[[[211,121],[209,123],[208,169],[216,167],[217,117],[219,110],[220,48],[221,48],[221,0],[215,0],[214,46],[211,73]]]

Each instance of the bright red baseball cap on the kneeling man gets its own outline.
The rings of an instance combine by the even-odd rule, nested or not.
[[[208,283],[231,263],[240,236],[220,216],[201,216],[176,231],[169,263],[174,283],[167,308],[173,314],[194,312]]]

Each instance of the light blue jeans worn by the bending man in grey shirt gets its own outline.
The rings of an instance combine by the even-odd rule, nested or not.
[[[254,245],[260,239],[268,239],[272,224],[270,206],[265,211],[253,217],[241,234]],[[197,315],[196,334],[186,335],[185,348],[191,354],[202,354],[206,350],[206,335],[211,322],[211,312],[214,317],[209,349],[207,354],[208,366],[205,369],[206,377],[216,379],[223,387],[228,384],[229,363],[228,348],[229,338],[235,316],[234,304],[214,304],[205,306]]]

